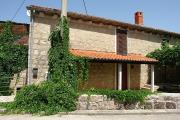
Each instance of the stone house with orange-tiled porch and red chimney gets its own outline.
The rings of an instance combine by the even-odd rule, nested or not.
[[[47,77],[48,37],[60,11],[39,6],[27,9],[31,14],[28,83],[38,84]],[[70,52],[91,60],[85,87],[141,89],[151,83],[154,91],[158,61],[145,56],[160,48],[164,36],[172,44],[180,40],[179,33],[144,26],[142,12],[135,13],[135,24],[74,12],[68,12],[68,18]]]

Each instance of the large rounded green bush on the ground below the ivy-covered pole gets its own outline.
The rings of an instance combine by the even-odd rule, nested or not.
[[[9,112],[56,114],[61,111],[73,111],[76,108],[76,92],[66,83],[44,82],[21,89],[15,101],[6,106]]]

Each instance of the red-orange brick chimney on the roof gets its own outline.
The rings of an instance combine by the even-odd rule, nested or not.
[[[135,13],[135,24],[144,25],[143,12],[138,11]]]

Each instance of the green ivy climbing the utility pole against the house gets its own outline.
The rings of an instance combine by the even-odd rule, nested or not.
[[[69,24],[65,17],[59,21],[49,39],[49,79],[54,82],[64,81],[77,89],[77,81],[87,79],[88,60],[69,52]]]

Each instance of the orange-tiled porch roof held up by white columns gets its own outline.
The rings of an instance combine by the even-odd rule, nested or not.
[[[156,59],[148,58],[140,54],[120,55],[116,53],[97,52],[92,50],[71,49],[70,52],[78,57],[87,57],[91,60],[134,62],[134,63],[157,63]]]

